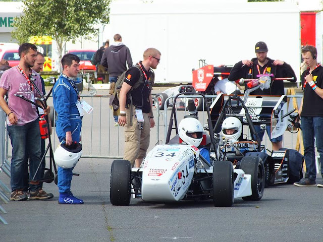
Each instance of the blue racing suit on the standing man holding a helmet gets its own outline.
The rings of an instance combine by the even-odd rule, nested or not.
[[[65,141],[66,132],[70,131],[73,142],[80,142],[82,117],[76,106],[78,94],[75,82],[61,74],[53,86],[53,104],[58,113],[56,134],[60,142]],[[71,189],[73,168],[58,168],[58,187],[60,193],[68,193]]]

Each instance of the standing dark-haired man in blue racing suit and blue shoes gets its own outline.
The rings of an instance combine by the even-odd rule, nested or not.
[[[63,72],[53,86],[52,96],[54,108],[58,113],[56,133],[60,142],[70,146],[80,142],[83,111],[76,83],[73,80],[79,72],[80,59],[75,54],[66,54],[62,58]],[[71,193],[73,168],[58,168],[59,204],[83,204]]]

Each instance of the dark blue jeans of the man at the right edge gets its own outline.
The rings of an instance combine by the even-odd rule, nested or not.
[[[323,117],[304,117],[302,116],[302,133],[304,143],[304,159],[306,164],[306,173],[308,178],[315,180],[315,148],[314,137],[316,138],[316,148],[319,153],[319,163],[321,165],[321,174],[323,174]]]

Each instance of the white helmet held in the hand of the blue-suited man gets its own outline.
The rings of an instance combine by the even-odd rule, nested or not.
[[[68,169],[76,165],[81,155],[82,145],[80,143],[73,143],[70,146],[61,143],[54,153],[54,160],[58,166]]]

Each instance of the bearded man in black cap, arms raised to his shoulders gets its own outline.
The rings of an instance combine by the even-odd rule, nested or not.
[[[252,58],[251,61],[246,59],[244,61],[238,62],[232,68],[228,79],[230,81],[235,81],[240,78],[244,79],[257,79],[261,75],[270,75],[272,78],[271,86],[268,89],[261,90],[260,88],[251,92],[251,95],[284,95],[284,82],[281,80],[274,81],[274,78],[281,77],[293,77],[291,82],[296,82],[296,75],[290,65],[284,61],[276,59],[274,61],[267,57],[268,48],[266,43],[259,41],[255,45],[256,58]],[[248,87],[245,85],[245,88]],[[264,130],[261,130],[259,126],[256,126],[256,131],[259,135],[260,140],[264,135]],[[271,134],[271,127],[267,126],[267,134]],[[277,137],[271,139],[273,150],[279,150],[282,148],[283,137]]]

